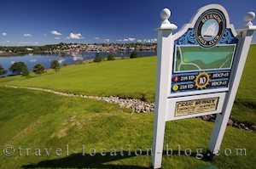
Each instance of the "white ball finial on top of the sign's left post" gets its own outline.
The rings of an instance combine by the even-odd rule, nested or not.
[[[176,30],[177,29],[177,25],[171,24],[171,22],[169,21],[170,16],[171,16],[171,11],[169,8],[164,8],[161,11],[161,14],[160,14],[160,17],[162,19],[162,22],[160,25],[161,30]]]

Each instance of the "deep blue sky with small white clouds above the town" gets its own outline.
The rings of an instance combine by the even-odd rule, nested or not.
[[[179,29],[209,3],[223,5],[235,28],[244,14],[256,12],[255,0],[0,0],[0,45],[154,40],[162,8],[172,10]]]

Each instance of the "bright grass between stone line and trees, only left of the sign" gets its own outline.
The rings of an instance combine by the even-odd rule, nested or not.
[[[73,93],[119,95],[154,100],[156,57],[73,65],[26,80],[20,76],[0,79],[0,84],[46,87]]]

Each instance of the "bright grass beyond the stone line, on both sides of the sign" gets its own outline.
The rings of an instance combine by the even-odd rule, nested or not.
[[[252,45],[236,95],[232,114],[239,121],[256,124],[256,45]],[[20,76],[0,78],[0,84],[45,87],[72,93],[118,95],[154,102],[156,57],[124,59],[100,64],[73,65],[26,80]]]

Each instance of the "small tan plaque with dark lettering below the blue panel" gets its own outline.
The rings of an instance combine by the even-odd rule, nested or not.
[[[218,97],[194,99],[176,103],[175,116],[191,115],[201,112],[215,111],[218,107]]]

